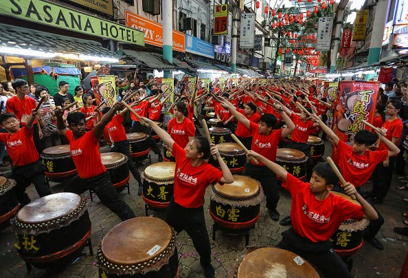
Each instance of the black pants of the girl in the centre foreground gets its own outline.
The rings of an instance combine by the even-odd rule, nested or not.
[[[205,226],[203,206],[185,208],[174,202],[174,198],[172,198],[167,208],[166,222],[177,233],[183,230],[188,233],[194,248],[200,254],[200,262],[203,266],[211,263],[211,246],[209,245],[207,227]]]

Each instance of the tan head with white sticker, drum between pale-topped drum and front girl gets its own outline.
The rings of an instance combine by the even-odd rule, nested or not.
[[[106,261],[137,265],[158,257],[172,240],[172,228],[156,217],[136,217],[114,226],[100,244]]]

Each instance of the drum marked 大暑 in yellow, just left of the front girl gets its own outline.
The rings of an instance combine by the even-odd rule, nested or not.
[[[143,172],[143,200],[151,208],[167,208],[173,197],[176,162],[158,162]]]

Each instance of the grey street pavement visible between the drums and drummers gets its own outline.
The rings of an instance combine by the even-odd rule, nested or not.
[[[330,142],[325,142],[326,153],[330,155]],[[106,151],[106,147],[102,148]],[[152,163],[157,162],[157,155],[150,151]],[[139,163],[139,171],[142,172],[149,165],[148,160],[144,163]],[[5,169],[0,169],[5,171]],[[407,171],[408,173],[408,171]],[[350,181],[352,182],[352,181]],[[54,193],[63,191],[63,184],[52,184]],[[137,195],[137,182],[131,175],[131,194],[127,191],[120,193],[123,200],[131,206],[137,217],[145,216],[144,201],[141,196]],[[398,277],[408,250],[408,237],[394,233],[393,228],[396,226],[404,226],[404,217],[402,213],[408,212],[408,203],[403,202],[404,197],[408,197],[408,191],[400,191],[396,186],[400,185],[397,175],[394,175],[392,187],[389,190],[383,204],[376,207],[383,214],[385,224],[381,228],[377,237],[384,245],[385,250],[377,250],[367,242],[364,242],[363,247],[356,254],[352,255],[354,264],[352,266],[352,275],[354,277]],[[369,190],[371,183],[368,182],[363,186],[363,189]],[[32,200],[38,198],[34,190],[34,186],[30,186],[27,192],[32,197]],[[291,197],[280,189],[280,202],[277,210],[280,212],[280,219],[289,215],[291,208]],[[89,193],[82,194],[82,197],[89,198]],[[209,190],[205,194],[205,208],[209,206]],[[119,224],[120,219],[108,208],[103,206],[98,197],[94,196],[93,202],[89,206],[89,214],[92,222],[92,247],[93,253],[96,254],[98,246],[106,233]],[[149,211],[149,215],[164,219],[163,213]],[[208,209],[205,212],[207,222],[207,230],[210,237],[212,247],[212,265],[216,269],[216,277],[226,277],[230,274],[233,264],[237,256],[245,249],[245,237],[227,235],[222,231],[216,232],[216,240],[212,240],[213,220],[209,215]],[[274,247],[280,239],[281,233],[286,231],[288,226],[281,226],[279,222],[274,222],[269,217],[265,208],[265,201],[261,203],[261,215],[255,228],[250,231],[249,246],[268,246]],[[16,248],[14,248],[15,235],[11,228],[5,228],[0,231],[0,277],[48,277],[46,270],[33,268],[31,272],[27,272],[24,261],[19,257]],[[204,277],[203,271],[199,262],[199,255],[192,246],[191,239],[185,232],[177,235],[177,249],[179,252],[179,277]],[[51,277],[98,277],[97,259],[89,255],[89,249],[84,248],[83,254],[72,264],[63,269],[53,269],[49,271]]]

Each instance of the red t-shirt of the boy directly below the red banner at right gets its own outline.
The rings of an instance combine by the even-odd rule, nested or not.
[[[365,151],[358,156],[353,148],[343,141],[337,144],[339,151],[339,168],[346,181],[355,187],[360,187],[370,178],[372,172],[379,162],[387,159],[388,151]]]

